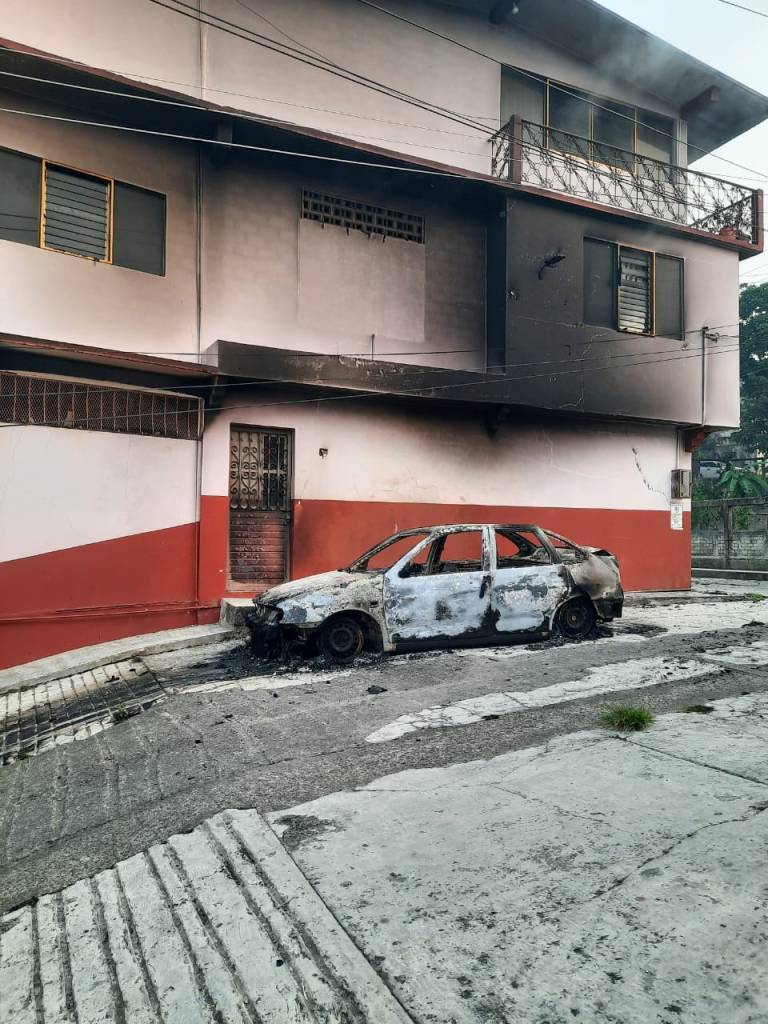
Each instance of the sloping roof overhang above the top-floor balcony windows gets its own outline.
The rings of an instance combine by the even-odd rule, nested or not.
[[[768,97],[595,0],[442,0],[527,33],[649,93],[688,119],[698,159],[768,118]],[[691,16],[694,16],[691,12]]]

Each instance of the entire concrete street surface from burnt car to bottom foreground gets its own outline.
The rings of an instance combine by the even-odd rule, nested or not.
[[[768,1021],[768,587],[726,586],[581,644],[147,654],[125,718],[94,670],[0,768],[0,1020]]]

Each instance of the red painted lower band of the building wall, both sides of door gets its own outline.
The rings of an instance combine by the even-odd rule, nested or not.
[[[198,595],[194,523],[0,563],[0,667],[119,637],[215,622],[215,604],[226,587],[227,521],[228,500],[204,496]],[[397,529],[515,521],[537,522],[612,551],[627,590],[690,586],[689,515],[685,529],[675,531],[667,511],[394,502],[295,502],[291,575],[346,565]]]

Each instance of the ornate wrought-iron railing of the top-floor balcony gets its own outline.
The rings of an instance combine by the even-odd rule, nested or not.
[[[512,120],[492,136],[493,173],[729,242],[762,242],[762,193],[686,167]]]

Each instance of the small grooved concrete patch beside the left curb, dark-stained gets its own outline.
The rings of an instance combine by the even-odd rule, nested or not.
[[[0,694],[0,765],[84,739],[146,711],[169,691],[139,660]]]

